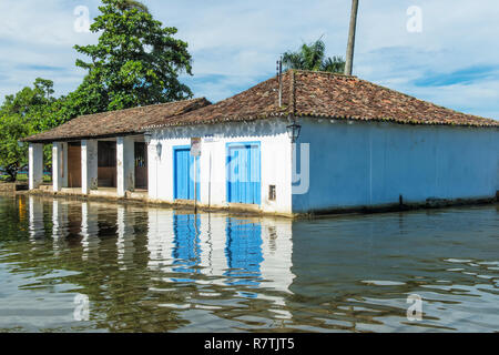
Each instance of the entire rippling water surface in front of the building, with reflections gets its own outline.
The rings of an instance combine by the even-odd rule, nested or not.
[[[499,206],[292,222],[0,196],[0,331],[497,332]]]

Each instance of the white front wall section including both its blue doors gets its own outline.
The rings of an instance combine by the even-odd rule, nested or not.
[[[201,139],[200,156],[191,155],[192,138]],[[284,120],[154,130],[149,156],[153,201],[186,203],[196,195],[202,206],[292,213],[292,144]]]

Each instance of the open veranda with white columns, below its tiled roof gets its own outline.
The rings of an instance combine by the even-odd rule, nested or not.
[[[43,143],[30,142],[30,190],[43,178]],[[125,197],[147,195],[143,134],[52,142],[52,191]]]

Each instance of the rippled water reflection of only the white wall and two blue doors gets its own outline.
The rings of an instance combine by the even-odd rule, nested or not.
[[[171,281],[192,281],[201,274],[220,286],[261,285],[288,292],[294,278],[291,221],[150,211],[150,267],[167,272]]]

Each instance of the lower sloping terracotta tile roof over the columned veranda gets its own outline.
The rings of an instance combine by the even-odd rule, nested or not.
[[[140,132],[140,128],[150,122],[165,120],[208,104],[210,101],[202,98],[82,115],[23,141],[41,143],[132,134]]]

